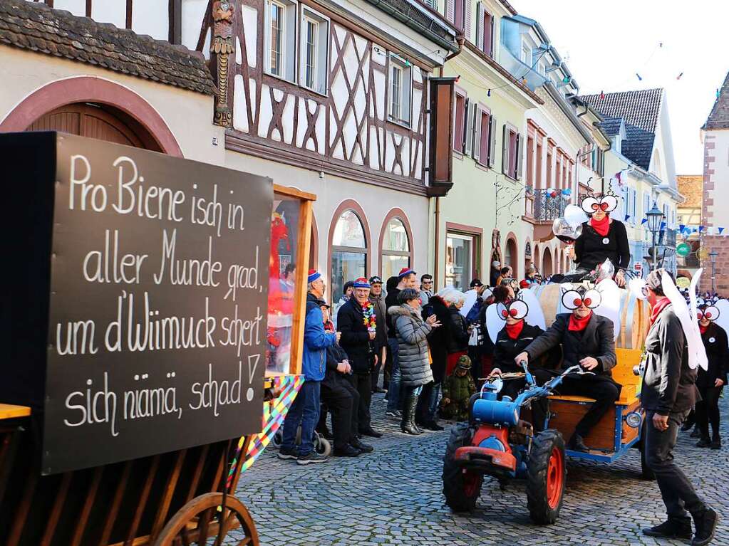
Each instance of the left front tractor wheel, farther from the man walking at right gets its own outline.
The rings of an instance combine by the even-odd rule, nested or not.
[[[457,424],[451,429],[451,438],[448,439],[448,447],[445,448],[443,494],[445,495],[445,504],[451,507],[453,512],[473,510],[481,494],[483,475],[471,470],[461,469],[454,460],[456,449],[469,446],[471,436],[472,433],[467,424]]]

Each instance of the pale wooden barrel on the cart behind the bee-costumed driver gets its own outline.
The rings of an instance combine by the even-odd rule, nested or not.
[[[562,305],[561,285],[540,285],[531,288],[539,299],[547,327],[560,313],[569,313]],[[620,290],[620,333],[615,346],[620,349],[642,349],[648,333],[650,309],[646,301],[636,298],[630,290]]]

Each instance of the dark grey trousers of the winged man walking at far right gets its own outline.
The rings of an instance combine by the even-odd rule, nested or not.
[[[706,506],[698,498],[693,485],[682,470],[674,464],[673,450],[679,434],[679,428],[686,419],[688,411],[668,415],[668,429],[658,430],[653,426],[655,411],[647,411],[644,449],[646,462],[650,470],[655,472],[655,480],[660,488],[660,496],[666,505],[668,518],[686,518],[687,511],[691,515],[700,515]]]

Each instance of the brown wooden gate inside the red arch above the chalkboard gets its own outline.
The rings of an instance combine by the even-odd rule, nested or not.
[[[70,132],[100,141],[163,151],[136,119],[106,104],[66,104],[39,117],[27,130]]]

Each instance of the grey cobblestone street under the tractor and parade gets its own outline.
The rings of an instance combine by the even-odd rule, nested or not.
[[[642,526],[662,521],[663,503],[655,482],[639,479],[637,450],[610,465],[569,460],[564,505],[553,526],[531,523],[523,483],[501,491],[491,478],[477,510],[453,515],[440,480],[448,430],[402,434],[384,419],[382,396],[373,397],[374,427],[384,433],[367,438],[373,454],[302,467],[278,460],[269,448],[241,476],[238,498],[251,510],[262,545],[684,544],[641,534]],[[721,405],[726,415],[727,400]],[[682,433],[677,460],[722,516],[712,544],[729,545],[728,447],[701,450],[695,441]]]

